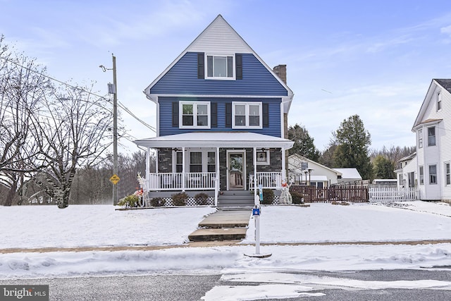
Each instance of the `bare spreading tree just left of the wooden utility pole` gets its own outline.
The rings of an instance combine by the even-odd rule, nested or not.
[[[77,168],[99,164],[111,145],[106,136],[112,121],[108,101],[91,90],[66,86],[47,95],[35,120],[39,149],[48,164],[43,171],[45,180],[37,180],[37,184],[59,208],[68,207]]]

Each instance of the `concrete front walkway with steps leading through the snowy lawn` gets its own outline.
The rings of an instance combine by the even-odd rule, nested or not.
[[[220,210],[206,216],[199,229],[188,235],[190,241],[242,240],[246,238],[250,210]]]

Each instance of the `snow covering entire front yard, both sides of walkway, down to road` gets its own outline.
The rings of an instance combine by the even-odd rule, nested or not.
[[[112,205],[0,207],[0,249],[123,245],[182,245],[213,208],[115,211]],[[250,217],[250,212],[249,212]],[[451,206],[443,203],[311,204],[264,207],[261,242],[366,242],[451,239]],[[233,247],[174,247],[154,251],[20,252],[0,254],[0,278],[149,272],[419,269],[451,264],[451,244],[262,245],[266,259],[246,257],[247,238]]]

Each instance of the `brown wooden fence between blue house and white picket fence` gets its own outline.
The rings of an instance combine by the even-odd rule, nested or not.
[[[369,202],[369,190],[366,186],[316,188],[306,185],[291,185],[290,191],[301,194],[304,202]]]

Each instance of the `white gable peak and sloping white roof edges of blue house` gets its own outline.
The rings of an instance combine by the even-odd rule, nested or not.
[[[208,25],[199,36],[184,50],[182,53],[168,66],[163,72],[144,90],[147,98],[153,102],[157,102],[157,99],[152,97],[151,89],[156,85],[161,78],[177,63],[187,52],[211,52],[215,54],[253,54],[255,58],[271,73],[280,85],[282,85],[288,92],[288,96],[284,101],[284,111],[288,113],[290,109],[293,92],[288,85],[281,80],[276,73],[258,56],[258,54],[245,42],[240,35],[231,27],[223,16],[218,15],[213,22]],[[214,95],[208,95],[214,97]],[[217,96],[217,95],[216,95]],[[229,95],[230,96],[230,95]]]

